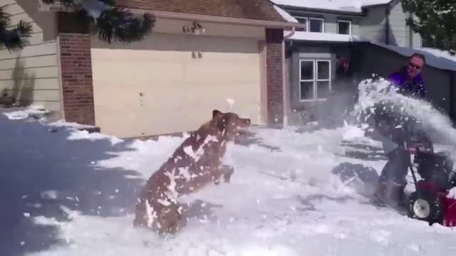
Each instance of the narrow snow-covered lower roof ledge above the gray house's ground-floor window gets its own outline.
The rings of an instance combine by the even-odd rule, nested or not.
[[[284,31],[284,36],[289,35],[290,31]],[[327,42],[361,42],[368,41],[361,36],[343,35],[337,33],[318,33],[318,32],[306,32],[296,31],[289,40],[296,41],[327,41]]]

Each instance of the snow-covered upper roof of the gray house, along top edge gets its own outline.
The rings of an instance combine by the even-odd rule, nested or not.
[[[390,4],[392,0],[271,0],[279,6],[326,11],[342,11],[361,14],[363,8]]]

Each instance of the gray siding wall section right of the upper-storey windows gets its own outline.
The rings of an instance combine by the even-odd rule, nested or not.
[[[359,33],[371,41],[385,43],[386,6],[372,7],[359,22]]]

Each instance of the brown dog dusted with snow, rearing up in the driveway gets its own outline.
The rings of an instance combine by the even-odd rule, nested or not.
[[[198,191],[209,183],[225,182],[233,173],[222,166],[227,142],[239,135],[239,128],[249,127],[250,119],[232,112],[212,111],[212,119],[175,150],[174,154],[149,178],[140,192],[133,224],[175,233],[182,228],[182,206],[177,198]]]

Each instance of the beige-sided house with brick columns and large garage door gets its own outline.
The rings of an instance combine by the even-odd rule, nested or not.
[[[157,18],[151,35],[131,45],[90,36],[58,4],[0,3],[13,23],[33,24],[24,50],[0,50],[1,87],[18,102],[118,137],[191,131],[213,109],[283,124],[284,28],[304,25],[270,1],[124,0]]]

